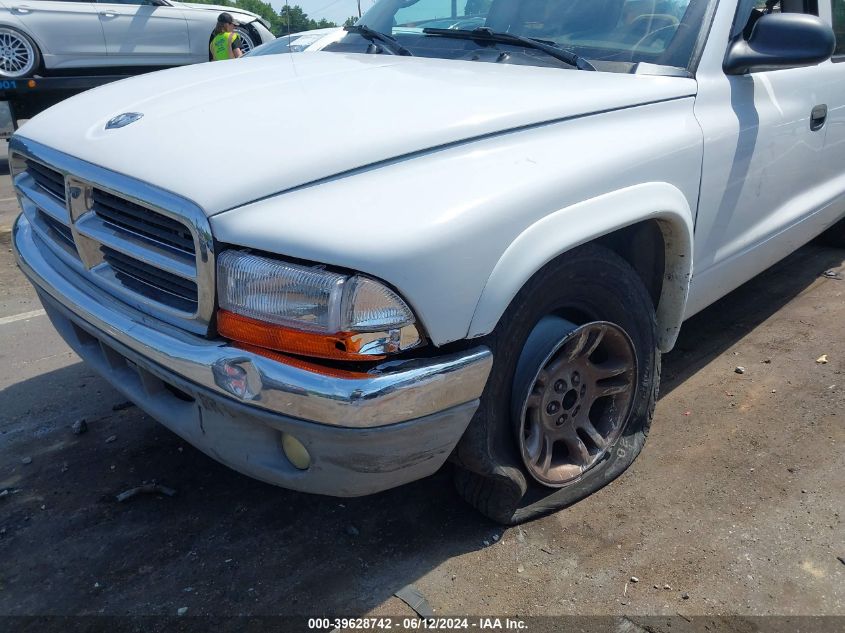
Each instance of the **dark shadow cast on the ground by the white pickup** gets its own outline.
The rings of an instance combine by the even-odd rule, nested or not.
[[[842,262],[804,247],[690,320],[665,357],[664,393]],[[0,515],[0,613],[409,614],[385,605],[394,592],[503,533],[457,497],[448,468],[366,498],[300,494],[217,464],[137,408],[112,412],[121,400],[81,363],[3,392],[16,407],[0,411],[18,413],[0,416],[0,488],[16,491]],[[44,402],[88,415],[88,433],[33,419]],[[177,495],[115,501],[153,479]]]

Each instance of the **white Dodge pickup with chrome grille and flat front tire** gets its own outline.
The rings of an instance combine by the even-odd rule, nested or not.
[[[232,468],[353,496],[449,459],[524,520],[631,464],[684,319],[845,241],[837,32],[842,0],[379,0],[24,125],[17,261]]]

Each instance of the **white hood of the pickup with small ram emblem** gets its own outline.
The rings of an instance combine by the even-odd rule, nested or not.
[[[432,148],[677,99],[695,88],[685,78],[483,62],[270,55],[108,84],[50,108],[18,134],[213,215]],[[125,112],[143,117],[105,128]],[[577,150],[562,147],[561,155],[573,160]]]

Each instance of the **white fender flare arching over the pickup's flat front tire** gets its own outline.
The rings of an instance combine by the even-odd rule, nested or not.
[[[560,209],[526,228],[490,273],[467,338],[489,334],[525,283],[543,266],[581,244],[655,220],[665,244],[657,306],[658,347],[672,349],[683,322],[692,279],[693,213],[686,196],[665,182],[634,185]]]

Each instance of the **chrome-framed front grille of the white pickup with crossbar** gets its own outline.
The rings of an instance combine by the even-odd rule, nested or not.
[[[24,214],[62,262],[138,310],[208,332],[214,251],[196,205],[20,138],[10,166]]]

